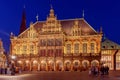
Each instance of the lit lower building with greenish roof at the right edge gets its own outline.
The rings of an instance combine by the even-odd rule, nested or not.
[[[104,38],[101,49],[101,62],[111,70],[120,70],[120,45]]]

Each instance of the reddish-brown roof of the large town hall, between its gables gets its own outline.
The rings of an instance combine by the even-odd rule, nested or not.
[[[66,20],[59,20],[61,22],[61,27],[63,28],[64,32],[67,35],[72,35],[72,27],[74,26],[76,19],[66,19]],[[94,35],[97,34],[97,32],[93,29],[93,27],[91,27],[87,21],[84,18],[79,18],[77,19],[79,22],[79,27],[81,28],[81,35],[85,35],[85,34],[89,34],[89,35]],[[45,23],[45,21],[37,21],[36,23],[34,23],[34,27],[35,29],[41,30],[43,24]]]

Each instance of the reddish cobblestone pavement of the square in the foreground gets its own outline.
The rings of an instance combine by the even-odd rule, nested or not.
[[[0,80],[120,80],[120,71],[110,71],[107,76],[89,76],[84,72],[24,72],[22,74],[0,75]]]

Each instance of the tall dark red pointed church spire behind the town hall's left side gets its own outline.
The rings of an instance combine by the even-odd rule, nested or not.
[[[26,13],[25,13],[25,5],[24,5],[19,34],[21,34],[25,30],[26,30]]]

